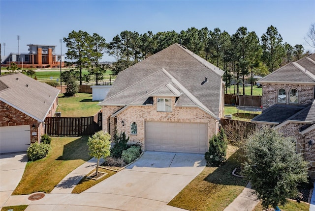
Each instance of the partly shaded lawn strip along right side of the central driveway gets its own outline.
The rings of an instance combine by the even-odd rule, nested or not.
[[[168,205],[190,211],[223,211],[244,189],[247,182],[232,175],[238,166],[234,147],[220,167],[205,167]]]

